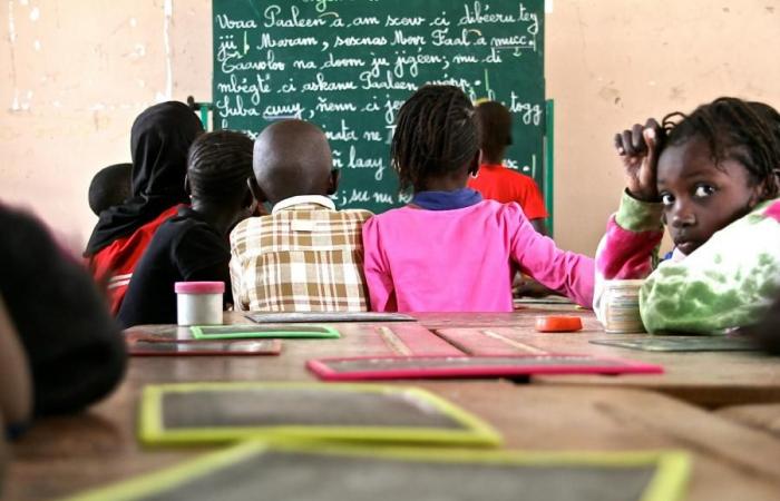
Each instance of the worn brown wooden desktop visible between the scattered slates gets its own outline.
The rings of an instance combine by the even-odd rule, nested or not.
[[[506,328],[506,332],[499,332],[518,336],[521,343],[536,350],[598,353],[659,362],[666,366],[667,374],[567,377],[571,385],[554,377],[542,379],[544,384],[532,385],[515,385],[507,381],[397,384],[422,386],[460,404],[501,431],[507,448],[684,449],[694,456],[690,500],[777,499],[777,492],[780,492],[780,440],[661,394],[617,387],[656,387],[672,394],[675,393],[673,389],[681,387],[688,395],[703,387],[723,395],[729,392],[728,387],[749,393],[748,387],[757,384],[774,395],[780,393],[777,361],[740,353],[653,354],[597,346],[588,344],[587,340],[606,335],[589,312],[576,313],[585,320],[585,333],[564,335],[532,331],[537,314],[538,310],[530,310],[501,315],[420,315],[420,320],[423,325],[441,328],[455,322],[491,330]],[[242,320],[228,316],[228,321]],[[390,334],[379,327],[389,328]],[[401,354],[399,352],[403,352],[404,346],[415,351],[419,346],[410,347],[403,343],[403,337],[411,332],[404,334],[404,330],[418,327],[416,324],[342,324],[341,340],[285,340],[279,357],[135,357],[125,382],[110,399],[79,416],[41,420],[14,444],[16,460],[9,471],[7,498],[3,499],[55,499],[155,471],[209,450],[145,450],[138,445],[135,439],[137,399],[145,384],[313,381],[304,369],[305,360]],[[397,343],[399,338],[401,344]],[[423,347],[436,351],[441,346],[432,342]],[[701,358],[696,360],[696,356]],[[738,371],[739,367],[743,371]]]

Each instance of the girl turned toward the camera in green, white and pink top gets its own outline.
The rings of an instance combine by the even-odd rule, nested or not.
[[[780,115],[720,98],[663,126],[635,125],[615,146],[627,187],[597,252],[599,318],[605,279],[646,277],[647,332],[723,334],[758,322],[780,294]],[[662,218],[676,247],[653,271]]]

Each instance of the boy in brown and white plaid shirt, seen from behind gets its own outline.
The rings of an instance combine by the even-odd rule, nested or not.
[[[273,209],[231,234],[236,308],[368,310],[360,230],[371,213],[335,210],[328,195],[338,181],[328,139],[316,126],[277,121],[257,137],[250,184],[256,200]]]

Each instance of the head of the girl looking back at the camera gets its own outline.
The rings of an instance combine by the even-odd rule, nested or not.
[[[684,254],[778,196],[780,116],[771,107],[720,98],[663,122],[659,195],[672,239]]]

